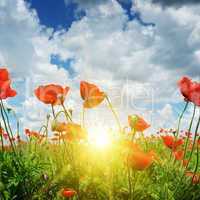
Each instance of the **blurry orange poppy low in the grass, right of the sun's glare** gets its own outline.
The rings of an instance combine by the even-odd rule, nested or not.
[[[128,156],[128,165],[136,170],[145,170],[151,166],[154,161],[152,153],[144,153],[142,151],[135,151]]]

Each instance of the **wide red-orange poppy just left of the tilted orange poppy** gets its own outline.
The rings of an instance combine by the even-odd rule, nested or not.
[[[36,97],[43,103],[51,105],[63,104],[68,92],[69,87],[63,88],[60,85],[54,84],[39,86],[35,89]]]

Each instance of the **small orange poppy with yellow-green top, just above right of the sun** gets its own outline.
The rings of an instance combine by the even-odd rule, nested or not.
[[[139,131],[139,132],[143,132],[144,130],[150,127],[150,125],[138,115],[129,115],[128,122],[129,122],[129,126],[133,130]]]

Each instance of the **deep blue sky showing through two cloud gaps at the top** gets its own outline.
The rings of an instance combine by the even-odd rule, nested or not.
[[[79,5],[76,2],[70,2],[66,5],[64,0],[46,0],[45,3],[39,0],[26,1],[30,4],[31,8],[36,9],[40,23],[55,30],[61,28],[68,30],[74,21],[82,19],[86,14],[84,9],[78,11],[77,14]],[[144,22],[139,12],[131,11],[133,5],[131,0],[116,1],[125,10],[129,20],[138,20],[144,26],[155,25],[152,22]]]

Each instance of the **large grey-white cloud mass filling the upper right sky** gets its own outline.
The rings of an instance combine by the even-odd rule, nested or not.
[[[82,78],[150,83],[155,96],[176,97],[180,76],[200,74],[198,9],[163,10],[150,1],[138,2],[137,9],[156,27],[128,21],[121,6],[109,1],[88,9],[82,20],[55,38],[58,51],[63,59],[75,58],[74,69]]]

